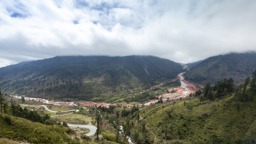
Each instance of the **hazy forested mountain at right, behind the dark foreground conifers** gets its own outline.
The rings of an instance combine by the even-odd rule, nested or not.
[[[234,83],[251,77],[256,70],[256,52],[231,53],[207,58],[185,74],[186,80],[198,84],[215,84],[220,79],[232,78]]]

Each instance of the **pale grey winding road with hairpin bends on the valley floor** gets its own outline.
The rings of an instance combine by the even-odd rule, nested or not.
[[[40,106],[43,106],[46,110],[48,110],[49,112],[55,112],[56,111],[53,111],[53,110],[49,110],[47,108],[47,106],[45,105],[40,105]],[[78,112],[79,110],[67,110],[67,111],[63,111],[63,112]],[[62,112],[60,112],[62,113]],[[72,114],[72,113],[68,113],[68,114]],[[68,114],[62,114],[60,116],[64,116],[64,115],[68,115]],[[54,116],[51,116],[51,117],[54,117]],[[93,125],[85,125],[85,124],[68,124],[68,126],[70,127],[78,127],[78,128],[88,128],[90,130],[90,132],[88,132],[87,134],[85,134],[86,136],[92,136],[95,134],[96,130],[97,130],[97,127],[96,126],[93,126]]]

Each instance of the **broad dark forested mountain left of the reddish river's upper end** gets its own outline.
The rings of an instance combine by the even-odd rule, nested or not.
[[[0,68],[0,86],[6,94],[92,100],[147,88],[183,71],[154,56],[57,56]]]

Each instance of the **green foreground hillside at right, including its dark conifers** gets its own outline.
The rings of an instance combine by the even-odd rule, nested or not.
[[[123,134],[137,144],[248,144],[256,130],[256,71],[253,76],[239,85],[232,79],[208,84],[184,100],[112,108],[104,119],[117,130],[121,124]]]

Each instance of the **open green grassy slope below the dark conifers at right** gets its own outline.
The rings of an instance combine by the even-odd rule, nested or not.
[[[169,104],[146,107],[146,112],[142,115],[160,139],[161,136],[164,137],[161,130],[168,128],[170,131],[167,134],[172,140],[189,143],[241,143],[250,138],[252,130],[256,130],[255,102],[234,104],[234,96],[212,102],[189,100],[186,101],[186,106],[183,101],[167,105]]]

